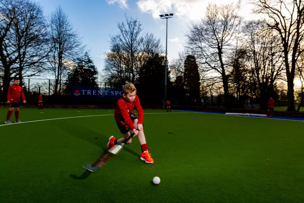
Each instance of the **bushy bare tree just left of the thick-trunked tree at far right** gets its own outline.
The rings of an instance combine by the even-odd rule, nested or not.
[[[269,97],[274,93],[274,83],[284,79],[280,39],[257,21],[247,22],[245,30],[251,79],[259,88],[257,97],[260,98],[260,109],[265,110]]]

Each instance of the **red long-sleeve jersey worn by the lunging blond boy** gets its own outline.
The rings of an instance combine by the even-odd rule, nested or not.
[[[116,123],[118,125],[127,125],[132,130],[136,129],[130,118],[130,114],[133,113],[134,107],[138,113],[137,124],[143,124],[143,109],[140,106],[140,101],[137,95],[133,102],[128,102],[123,96],[117,101],[114,113]]]

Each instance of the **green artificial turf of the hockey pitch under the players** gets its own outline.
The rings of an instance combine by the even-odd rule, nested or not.
[[[88,173],[81,165],[94,162],[111,135],[121,137],[113,113],[22,108],[23,122],[105,116],[0,126],[0,202],[304,201],[301,121],[145,110],[155,163],[139,159],[134,138]]]

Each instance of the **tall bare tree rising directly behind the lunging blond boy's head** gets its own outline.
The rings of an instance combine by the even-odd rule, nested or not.
[[[106,77],[118,85],[122,85],[125,80],[136,83],[136,75],[142,65],[139,53],[142,52],[143,37],[140,33],[143,28],[137,19],[127,16],[126,23],[118,23],[117,27],[119,33],[111,36],[110,52],[105,58]]]

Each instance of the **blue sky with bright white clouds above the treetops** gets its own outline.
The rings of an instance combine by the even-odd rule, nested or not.
[[[91,50],[98,70],[103,68],[102,55],[109,50],[109,35],[117,33],[117,22],[127,16],[138,18],[143,32],[154,33],[166,45],[166,20],[159,15],[174,13],[168,20],[168,58],[178,57],[183,51],[185,32],[191,21],[204,17],[208,0],[36,0],[48,16],[61,6],[69,20]],[[214,2],[210,1],[209,2]],[[217,4],[237,0],[217,0]],[[247,0],[242,2],[241,15],[252,18]]]

